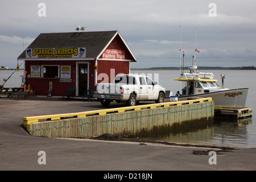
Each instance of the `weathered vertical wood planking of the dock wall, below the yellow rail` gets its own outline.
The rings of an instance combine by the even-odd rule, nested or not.
[[[214,102],[207,101],[81,118],[33,122],[30,123],[28,133],[36,137],[49,138],[90,138],[105,133],[129,137],[129,135],[136,136],[144,132],[152,132],[155,127],[159,126],[164,126],[160,127],[161,130],[166,130],[167,127],[183,129],[186,127],[184,125],[199,125],[199,121],[208,122],[213,117]]]

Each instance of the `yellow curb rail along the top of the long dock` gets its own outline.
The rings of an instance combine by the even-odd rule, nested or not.
[[[207,102],[212,101],[211,97],[208,98],[199,98],[195,100],[187,100],[187,101],[176,101],[176,102],[163,102],[159,104],[147,104],[147,105],[138,105],[138,106],[128,106],[128,107],[118,107],[114,109],[102,109],[102,110],[93,110],[93,111],[83,111],[78,113],[67,113],[67,114],[51,114],[51,115],[38,115],[32,117],[23,117],[23,126],[27,128],[27,125],[30,125],[34,122],[40,121],[52,121],[57,119],[64,119],[64,118],[81,118],[87,117],[89,115],[104,115],[109,113],[123,113],[125,111],[131,110],[141,110],[141,109],[154,109],[156,107],[169,107],[169,106],[176,106],[176,105],[187,105],[187,104],[195,104],[199,102]]]

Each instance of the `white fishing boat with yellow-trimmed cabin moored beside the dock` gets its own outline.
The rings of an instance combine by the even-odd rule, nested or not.
[[[241,106],[246,103],[249,88],[224,88],[225,75],[221,75],[222,86],[213,79],[213,73],[203,73],[197,71],[197,66],[192,65],[189,71],[181,69],[180,77],[176,81],[183,82],[180,101],[188,100],[192,97],[212,97],[214,105],[218,106]]]

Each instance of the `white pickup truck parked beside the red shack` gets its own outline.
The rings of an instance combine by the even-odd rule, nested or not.
[[[94,97],[100,99],[102,106],[109,106],[111,101],[134,106],[146,100],[163,102],[165,94],[166,89],[147,76],[117,75],[112,84],[98,84]]]

